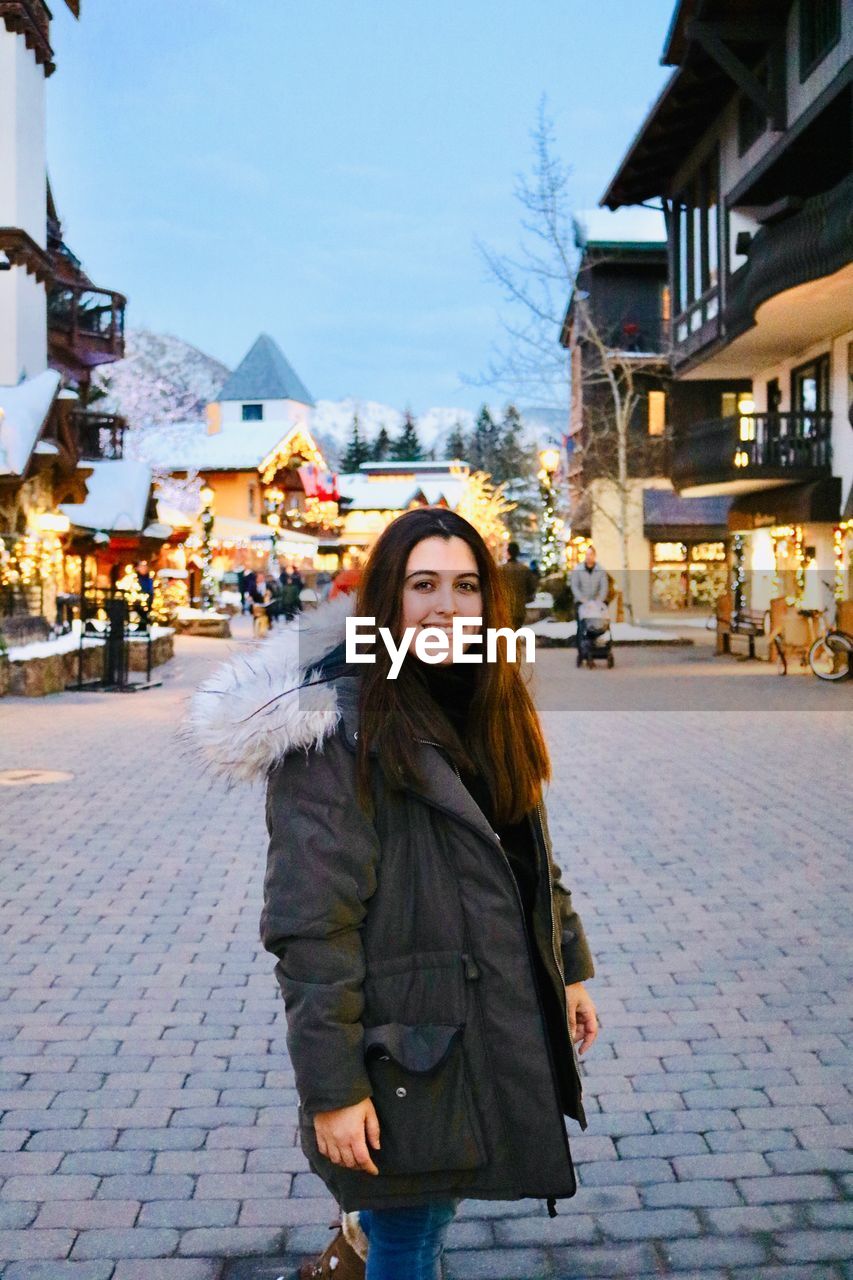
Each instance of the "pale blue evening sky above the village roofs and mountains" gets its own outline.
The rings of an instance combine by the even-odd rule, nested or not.
[[[666,72],[674,0],[55,4],[49,165],[128,323],[227,365],[273,334],[316,398],[475,407],[547,95],[593,207]]]

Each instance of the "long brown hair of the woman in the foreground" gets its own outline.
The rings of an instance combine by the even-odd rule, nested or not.
[[[409,556],[424,538],[461,538],[467,543],[480,577],[483,627],[510,627],[510,611],[492,554],[478,530],[453,511],[419,507],[397,516],[373,547],[357,590],[357,612],[375,618],[377,631],[402,635],[402,594]],[[421,783],[418,740],[441,744],[461,768],[474,768],[488,781],[497,822],[519,822],[542,799],[551,778],[551,760],[539,717],[517,666],[507,662],[506,643],[497,660],[473,666],[474,695],[469,731],[460,741],[450,721],[429,695],[416,664],[403,662],[388,680],[391,658],[377,644],[375,662],[365,664],[360,689],[357,777],[359,797],[369,810],[369,751],[375,748],[387,781],[394,787]]]

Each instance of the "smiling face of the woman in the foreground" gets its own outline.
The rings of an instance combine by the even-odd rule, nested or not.
[[[483,616],[480,575],[474,552],[461,538],[424,538],[406,562],[402,630],[441,627],[450,636],[453,618]],[[415,640],[412,636],[412,644]],[[448,653],[441,666],[452,662]]]

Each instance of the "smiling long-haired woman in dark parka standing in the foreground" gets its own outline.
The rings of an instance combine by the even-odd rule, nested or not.
[[[433,1280],[462,1198],[544,1197],[553,1216],[575,1194],[564,1115],[587,1128],[574,1042],[597,1036],[594,969],[552,859],[549,762],[519,668],[502,644],[496,662],[414,652],[457,616],[507,625],[485,543],[438,508],[377,541],[357,613],[407,637],[396,680],[383,644],[347,664],[352,603],[220,672],[195,719],[214,763],[268,781],[260,934],[301,1146],[343,1210],[301,1275]]]

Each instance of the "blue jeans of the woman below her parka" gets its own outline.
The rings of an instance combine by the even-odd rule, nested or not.
[[[411,1208],[359,1210],[370,1244],[365,1280],[442,1280],[444,1235],[459,1203],[441,1199]]]

